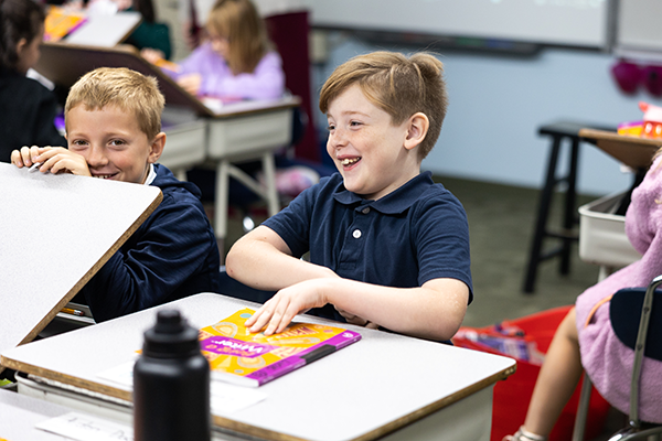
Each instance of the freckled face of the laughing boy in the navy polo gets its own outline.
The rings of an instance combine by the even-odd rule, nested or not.
[[[404,147],[408,121],[394,126],[391,115],[373,105],[359,85],[331,101],[327,118],[327,152],[349,191],[378,200],[419,173],[415,155]]]

